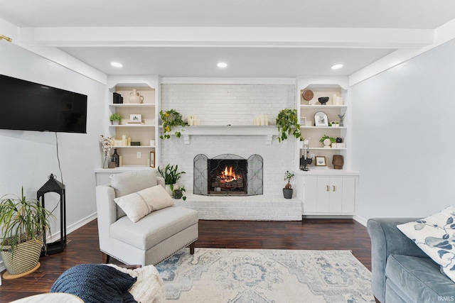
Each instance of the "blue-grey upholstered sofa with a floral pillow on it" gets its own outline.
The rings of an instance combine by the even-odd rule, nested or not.
[[[412,218],[368,220],[373,294],[381,303],[455,302],[455,283],[398,228]]]

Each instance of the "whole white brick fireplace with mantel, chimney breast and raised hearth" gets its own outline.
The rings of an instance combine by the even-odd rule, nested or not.
[[[295,108],[295,99],[293,83],[161,84],[161,108],[176,109],[183,119],[188,115],[197,116],[201,124],[183,131],[182,137],[188,136],[187,141],[185,138],[171,138],[160,142],[161,165],[178,165],[186,172],[179,182],[186,187],[187,199],[175,200],[176,204],[196,209],[199,218],[207,220],[301,220],[301,202],[295,198],[284,199],[282,194],[286,183],[284,172],[298,167],[297,141],[278,143],[277,130],[273,127],[281,109]],[[267,135],[249,131],[247,127],[237,133],[226,132],[230,129],[228,126],[253,126],[258,115],[269,116],[268,127],[274,131],[270,140],[267,140]],[[205,131],[205,128],[210,128],[210,131]],[[230,158],[235,158],[233,160],[247,160],[249,165],[252,156],[260,157],[260,177],[254,173],[250,175],[252,169],[247,167],[247,194],[231,192],[230,195],[220,195],[217,190],[223,192],[221,187],[215,186],[216,182],[209,184],[208,160],[226,160],[223,159],[227,157],[225,155],[231,155]],[[218,170],[225,169],[223,162],[218,166]],[[251,176],[255,179],[250,180]],[[260,185],[250,189],[259,181]],[[212,185],[214,192],[209,194]]]

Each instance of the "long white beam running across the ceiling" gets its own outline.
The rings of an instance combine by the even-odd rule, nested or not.
[[[434,31],[393,28],[20,28],[23,44],[53,47],[422,48]]]

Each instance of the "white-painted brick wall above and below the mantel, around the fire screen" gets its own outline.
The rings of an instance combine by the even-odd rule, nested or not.
[[[161,108],[176,109],[183,119],[190,114],[201,125],[252,125],[258,115],[268,115],[275,124],[281,109],[294,109],[295,85],[292,84],[162,84]],[[278,133],[278,131],[277,131]],[[193,189],[193,159],[198,154],[209,158],[224,153],[249,158],[252,154],[264,158],[264,194],[282,194],[284,172],[296,167],[296,139],[279,143],[274,136],[272,145],[265,136],[192,136],[190,144],[173,136],[161,141],[161,164],[179,165],[186,172],[181,183]]]

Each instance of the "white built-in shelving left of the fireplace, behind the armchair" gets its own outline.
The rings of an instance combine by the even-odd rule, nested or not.
[[[110,154],[112,155],[114,148],[116,148],[117,153],[122,157],[122,166],[95,169],[97,184],[108,181],[109,175],[112,173],[148,169],[156,167],[159,163],[159,127],[156,126],[159,121],[158,113],[161,99],[159,77],[112,76],[108,77],[107,87],[109,87],[109,92],[105,125],[107,135],[117,139],[117,143],[112,147]],[[136,89],[143,97],[139,104],[129,102],[133,89]],[[123,97],[122,104],[114,104],[114,92]],[[109,116],[114,113],[122,117],[119,125],[112,125],[109,121]],[[141,115],[141,123],[128,123],[132,115]],[[123,136],[140,145],[119,143]]]

